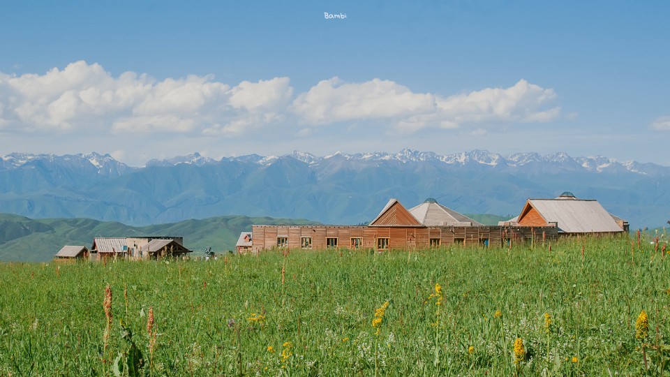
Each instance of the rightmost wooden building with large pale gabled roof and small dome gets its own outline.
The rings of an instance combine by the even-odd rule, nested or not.
[[[614,234],[629,228],[628,221],[607,212],[597,200],[578,199],[568,191],[557,198],[528,199],[519,216],[500,225],[553,225],[559,235]]]

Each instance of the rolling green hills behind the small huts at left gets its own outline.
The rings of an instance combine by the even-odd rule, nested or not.
[[[116,221],[92,219],[28,219],[0,214],[0,260],[47,262],[65,245],[93,244],[94,237],[174,236],[184,237],[184,246],[202,254],[204,249],[221,253],[233,250],[239,233],[252,224],[315,224],[304,219],[218,216],[201,220],[152,226],[127,226]]]

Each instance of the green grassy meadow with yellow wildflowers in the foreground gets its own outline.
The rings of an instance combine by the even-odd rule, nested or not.
[[[4,263],[0,376],[667,375],[670,258],[642,238]]]

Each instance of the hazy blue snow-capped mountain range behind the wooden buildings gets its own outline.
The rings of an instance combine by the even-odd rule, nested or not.
[[[413,207],[429,197],[462,213],[512,217],[527,198],[571,191],[599,200],[632,229],[654,228],[670,218],[668,187],[667,166],[565,153],[195,153],[142,167],[96,153],[0,157],[0,212],[133,226],[238,214],[357,224],[389,198]]]

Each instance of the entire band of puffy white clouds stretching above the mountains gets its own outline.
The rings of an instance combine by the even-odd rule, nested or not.
[[[177,133],[240,135],[296,125],[297,135],[342,122],[377,121],[393,131],[472,129],[539,123],[560,117],[553,89],[526,80],[440,96],[390,80],[322,80],[294,95],[288,77],[235,86],[212,76],[155,80],[133,72],[113,77],[100,64],[77,61],[44,75],[0,73],[0,131],[12,133]],[[667,127],[660,120],[655,128]]]

